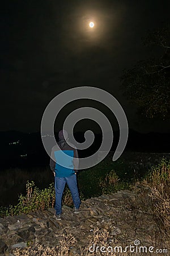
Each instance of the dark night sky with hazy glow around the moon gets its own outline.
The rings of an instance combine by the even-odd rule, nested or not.
[[[129,127],[141,132],[170,129],[168,121],[141,121],[120,88],[125,68],[153,52],[142,44],[148,31],[169,19],[169,1],[20,0],[1,3],[1,131],[40,131],[49,102],[66,89],[96,86],[120,102]],[[88,24],[94,21],[91,29]],[[90,100],[66,106],[56,126]],[[82,121],[77,130],[89,129]],[[87,126],[87,127],[86,127]],[[95,125],[94,125],[95,127]],[[96,128],[97,129],[97,128]]]

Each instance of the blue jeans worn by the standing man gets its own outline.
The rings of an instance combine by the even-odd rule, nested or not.
[[[61,203],[62,203],[62,194],[63,190],[65,188],[65,184],[67,183],[71,195],[73,198],[73,203],[75,208],[80,207],[80,198],[79,198],[79,192],[77,188],[77,183],[76,183],[76,175],[73,174],[69,177],[55,177],[55,189],[56,189],[56,214],[61,214],[62,209],[61,209]]]

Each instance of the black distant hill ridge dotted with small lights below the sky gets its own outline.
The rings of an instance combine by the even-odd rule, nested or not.
[[[115,151],[120,133],[113,131],[113,144],[111,151]],[[50,138],[50,134],[46,133]],[[58,132],[55,133],[56,141],[58,141]],[[84,141],[84,133],[78,132],[74,134],[76,141]],[[43,166],[49,163],[49,156],[46,154],[44,146],[41,141],[40,132],[23,133],[21,131],[1,131],[1,167],[8,167],[8,163],[12,163],[15,167],[16,163],[31,164],[32,166]],[[102,135],[95,134],[94,143],[87,148],[87,150],[78,150],[80,157],[86,157],[96,152],[102,142]],[[125,151],[133,152],[170,152],[170,133],[147,133],[142,134],[138,131],[129,129],[128,143]],[[27,159],[27,160],[26,160]],[[39,161],[37,162],[37,159]],[[10,161],[9,161],[10,160]]]

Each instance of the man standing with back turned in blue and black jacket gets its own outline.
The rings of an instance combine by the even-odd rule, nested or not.
[[[50,158],[50,169],[53,171],[55,177],[56,205],[54,209],[56,209],[57,220],[61,220],[62,194],[66,183],[71,191],[71,196],[73,198],[74,213],[80,212],[80,198],[76,183],[76,172],[78,171],[77,168],[79,161],[78,159],[75,159],[78,158],[78,152],[76,148],[71,147],[69,146],[69,144],[67,144],[67,132],[65,130],[59,131],[58,137],[59,142],[57,144],[59,146],[59,149],[57,148],[57,146],[54,146],[52,148],[52,154]],[[61,150],[66,155],[69,155],[70,158],[68,159],[66,155],[63,155]],[[52,158],[55,159],[56,161],[54,162]],[[61,164],[63,162],[66,167],[63,167],[61,164],[58,164],[58,162]]]

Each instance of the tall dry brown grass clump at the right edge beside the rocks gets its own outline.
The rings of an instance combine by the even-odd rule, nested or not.
[[[142,212],[152,214],[156,223],[155,241],[162,247],[170,244],[170,160],[162,159],[151,168],[141,182],[142,188],[134,204]]]

